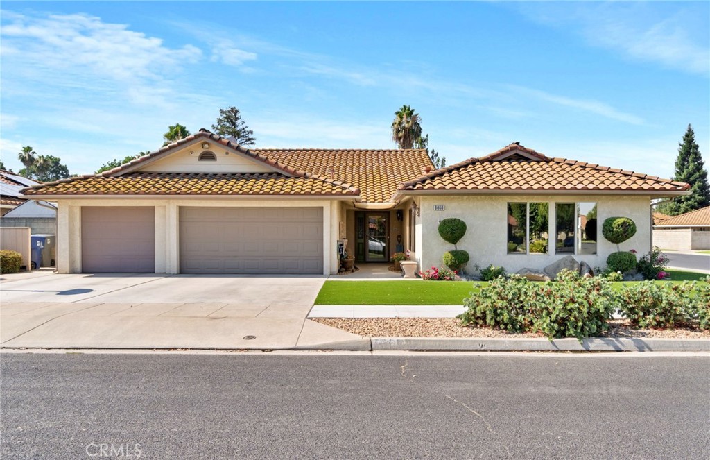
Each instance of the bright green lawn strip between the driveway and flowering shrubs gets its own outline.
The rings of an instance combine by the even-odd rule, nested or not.
[[[462,305],[481,283],[465,281],[327,281],[316,305]]]

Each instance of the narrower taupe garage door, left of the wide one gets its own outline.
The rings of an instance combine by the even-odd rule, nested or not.
[[[82,272],[155,272],[155,208],[83,207]]]

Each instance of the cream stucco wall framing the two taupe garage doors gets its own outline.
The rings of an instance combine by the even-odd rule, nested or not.
[[[344,214],[336,200],[283,200],[283,199],[102,199],[59,200],[57,213],[57,269],[59,273],[80,273],[81,210],[85,206],[151,206],[155,208],[155,272],[178,273],[180,206],[201,207],[322,207],[323,208],[323,274],[338,270],[338,225]]]

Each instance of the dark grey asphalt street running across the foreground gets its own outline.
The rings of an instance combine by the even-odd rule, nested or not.
[[[3,459],[710,451],[707,355],[4,353],[0,372]]]

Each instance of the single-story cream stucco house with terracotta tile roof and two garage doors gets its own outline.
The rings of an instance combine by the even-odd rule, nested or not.
[[[599,267],[616,251],[604,218],[635,220],[622,250],[648,251],[650,200],[688,188],[517,143],[433,170],[424,150],[246,149],[201,129],[23,194],[59,205],[60,273],[334,274],[343,242],[356,262],[410,250],[420,268],[441,266],[453,247],[437,228],[449,217],[468,225],[458,247],[471,265],[514,271],[574,255]]]

